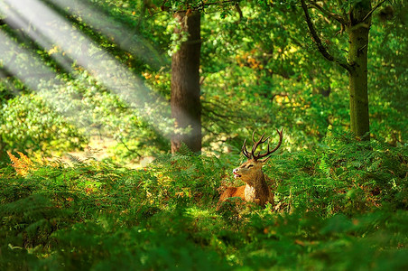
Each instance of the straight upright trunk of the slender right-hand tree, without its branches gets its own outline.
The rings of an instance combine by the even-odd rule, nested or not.
[[[370,0],[354,4],[350,10],[350,25],[348,28],[348,62],[351,66],[351,70],[349,70],[351,132],[364,140],[370,139],[367,49],[371,16],[366,18],[366,14],[370,10]],[[365,18],[366,20],[364,20]]]

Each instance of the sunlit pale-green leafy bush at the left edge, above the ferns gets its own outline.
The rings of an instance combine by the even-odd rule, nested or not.
[[[7,149],[62,151],[79,148],[87,139],[78,127],[48,107],[36,95],[21,95],[1,106],[0,136]]]

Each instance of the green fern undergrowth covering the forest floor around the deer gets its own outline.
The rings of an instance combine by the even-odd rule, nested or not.
[[[275,155],[274,204],[220,211],[236,155],[163,155],[137,170],[11,157],[1,270],[408,268],[406,146],[342,136]]]

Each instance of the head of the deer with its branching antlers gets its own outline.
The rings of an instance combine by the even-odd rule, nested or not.
[[[279,143],[274,147],[274,149],[270,150],[269,146],[269,137],[264,138],[264,134],[261,135],[261,138],[259,138],[258,141],[255,141],[255,131],[252,134],[252,141],[254,142],[254,145],[252,146],[252,150],[249,153],[246,150],[246,140],[244,140],[244,145],[242,146],[242,153],[248,158],[248,160],[235,168],[233,170],[234,173],[234,178],[241,179],[242,181],[246,182],[250,186],[255,186],[256,182],[259,182],[260,180],[264,180],[264,173],[262,172],[262,166],[264,163],[271,157],[270,154],[273,154],[276,152],[276,150],[281,146],[282,144],[282,139],[283,139],[283,129],[279,131],[276,129],[279,135]],[[266,153],[261,154],[259,152],[258,154],[255,154],[256,148],[259,145],[264,144],[266,141],[268,141],[268,149]]]

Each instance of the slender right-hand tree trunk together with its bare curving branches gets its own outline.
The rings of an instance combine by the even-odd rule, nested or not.
[[[378,2],[376,8],[385,1]],[[301,0],[301,8],[306,17],[311,36],[320,53],[328,60],[334,61],[340,67],[348,70],[348,89],[350,99],[350,126],[351,132],[363,140],[370,139],[370,122],[368,114],[368,92],[367,92],[367,49],[368,33],[370,31],[371,0],[358,0],[350,2],[349,18],[325,10],[316,1],[309,2],[312,7],[319,9],[323,14],[338,21],[347,27],[348,31],[348,61],[335,57],[323,46],[319,34],[314,29],[308,5]]]

